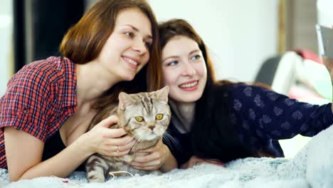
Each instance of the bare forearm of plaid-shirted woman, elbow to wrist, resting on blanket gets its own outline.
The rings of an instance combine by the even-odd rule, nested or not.
[[[80,164],[85,162],[93,153],[85,148],[82,139],[78,139],[63,151],[40,162],[24,172],[19,179],[31,179],[34,177],[68,177]]]

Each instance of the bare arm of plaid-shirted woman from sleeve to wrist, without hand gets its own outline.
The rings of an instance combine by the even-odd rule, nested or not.
[[[6,127],[4,137],[11,182],[51,175],[66,177],[92,154],[77,140],[58,155],[41,162],[44,147],[41,140],[14,127]]]

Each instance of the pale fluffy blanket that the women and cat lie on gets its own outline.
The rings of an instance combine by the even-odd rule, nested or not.
[[[246,158],[218,167],[210,164],[191,169],[143,177],[118,177],[105,183],[88,183],[85,172],[73,172],[68,179],[39,177],[9,183],[6,169],[0,169],[0,187],[333,187],[333,126],[320,132],[294,157]]]

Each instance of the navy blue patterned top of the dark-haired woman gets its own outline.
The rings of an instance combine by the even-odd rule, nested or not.
[[[227,86],[222,95],[240,141],[256,150],[269,150],[275,157],[283,157],[277,140],[297,134],[312,137],[333,124],[332,103],[301,103],[273,90],[243,83]],[[190,135],[179,132],[172,116],[168,132],[176,143],[166,142],[166,145],[181,165],[193,155]]]

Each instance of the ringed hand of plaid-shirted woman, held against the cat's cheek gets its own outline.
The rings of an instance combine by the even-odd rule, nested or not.
[[[117,123],[116,115],[107,117],[95,125],[93,129],[85,133],[88,147],[93,153],[110,157],[126,155],[135,144],[134,137],[126,135],[124,129],[110,129],[109,127]]]

